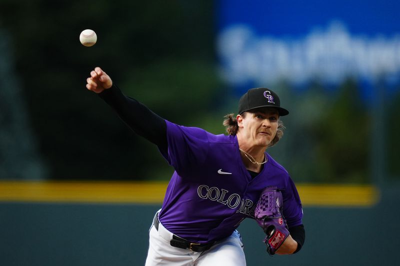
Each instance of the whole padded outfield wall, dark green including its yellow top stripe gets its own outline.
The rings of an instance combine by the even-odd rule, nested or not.
[[[148,229],[166,184],[21,184],[0,184],[1,266],[144,265]],[[247,219],[239,226],[247,265],[396,265],[399,188],[298,187],[304,199],[303,250],[268,256],[263,233]],[[134,203],[138,191],[149,195],[148,189],[152,197]],[[320,200],[312,199],[318,193]]]

